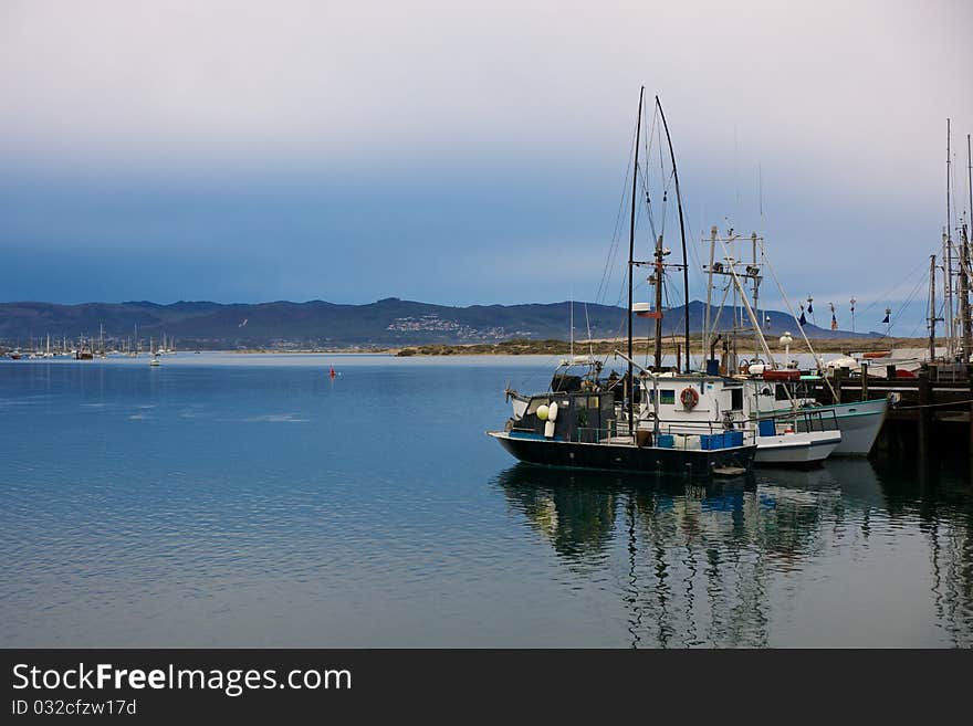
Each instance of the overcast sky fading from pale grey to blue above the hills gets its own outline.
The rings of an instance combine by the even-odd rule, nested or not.
[[[695,252],[755,229],[819,322],[881,329],[946,117],[969,204],[971,38],[960,0],[0,0],[0,299],[594,299],[644,84]]]

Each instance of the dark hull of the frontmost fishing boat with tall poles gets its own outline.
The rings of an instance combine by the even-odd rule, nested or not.
[[[531,464],[566,469],[680,474],[709,478],[714,470],[750,470],[756,448],[665,449],[631,444],[576,443],[542,438],[521,438],[505,431],[488,431],[515,459]]]

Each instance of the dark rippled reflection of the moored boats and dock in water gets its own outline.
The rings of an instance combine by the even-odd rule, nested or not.
[[[847,627],[856,644],[843,600],[873,599],[880,620],[894,578],[924,598],[916,612],[931,609],[940,634],[928,644],[973,644],[969,483],[918,483],[868,461],[836,460],[705,486],[517,464],[496,484],[573,575],[609,576],[632,648],[773,645],[809,602],[829,607],[813,606],[808,623],[794,628],[813,631],[818,619]],[[897,572],[896,558],[916,565]],[[885,579],[856,580],[856,568],[872,560]],[[917,571],[923,560],[929,570]],[[827,591],[846,580],[859,589]],[[917,580],[928,588],[907,587]]]

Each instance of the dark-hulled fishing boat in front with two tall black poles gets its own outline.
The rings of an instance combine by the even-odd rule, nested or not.
[[[658,409],[647,403],[645,392],[659,388],[658,371],[650,371],[632,359],[632,316],[642,314],[645,304],[638,306],[632,301],[634,271],[640,264],[635,259],[635,229],[639,178],[639,145],[641,134],[645,88],[639,93],[638,122],[635,136],[635,167],[631,187],[631,218],[629,227],[628,255],[628,355],[616,351],[628,370],[618,379],[601,380],[600,365],[590,359],[577,360],[572,357],[563,361],[565,368],[580,364],[587,367],[586,376],[567,377],[566,371],[555,371],[547,391],[524,396],[509,386],[505,394],[513,404],[513,415],[503,430],[488,431],[516,459],[533,464],[571,469],[600,469],[634,471],[653,474],[682,474],[691,477],[709,478],[714,475],[739,475],[747,472],[756,454],[755,431],[728,430],[723,421],[682,415],[673,408],[673,419],[663,419]],[[679,191],[679,176],[676,156],[666,125],[658,96],[656,109],[669,144],[669,157],[676,185],[679,208],[680,231],[682,233],[683,264],[686,271],[686,234],[683,227],[682,199]],[[658,295],[661,294],[661,272],[663,256],[668,250],[662,248],[662,238],[656,244],[656,259],[652,266],[657,275]],[[689,296],[688,278],[684,295]],[[688,305],[687,305],[688,309]],[[659,329],[657,325],[657,330]],[[688,327],[687,327],[688,340]],[[688,347],[687,347],[688,350]],[[689,360],[687,356],[687,367]],[[638,373],[636,373],[638,370]],[[638,382],[636,382],[636,375]],[[703,393],[705,381],[700,380]],[[619,397],[617,393],[621,393]],[[726,391],[724,397],[731,396]],[[619,398],[621,400],[619,400]],[[657,403],[661,394],[657,396]]]

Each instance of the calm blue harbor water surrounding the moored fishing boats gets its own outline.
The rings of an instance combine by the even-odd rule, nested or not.
[[[483,431],[550,370],[0,362],[0,645],[973,644],[965,470],[516,465]]]

